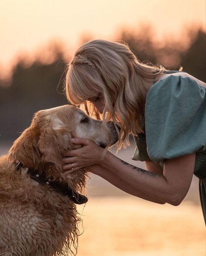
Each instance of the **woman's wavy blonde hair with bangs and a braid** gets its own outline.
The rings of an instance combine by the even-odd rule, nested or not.
[[[91,40],[84,43],[68,64],[66,96],[75,106],[100,119],[95,106],[88,101],[102,93],[105,108],[103,124],[110,120],[120,126],[119,148],[129,145],[129,134],[144,132],[146,94],[152,81],[166,69],[140,63],[126,43]],[[150,86],[148,82],[150,81]]]

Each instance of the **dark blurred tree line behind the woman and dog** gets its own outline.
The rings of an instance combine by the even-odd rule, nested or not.
[[[191,32],[191,31],[190,31]],[[82,39],[81,43],[92,38]],[[183,70],[199,80],[206,81],[206,33],[202,29],[189,33],[188,42],[172,37],[156,43],[150,26],[136,33],[123,30],[118,39],[124,41],[140,61],[161,64],[170,70]],[[50,45],[50,61],[37,57],[27,64],[19,59],[13,67],[10,84],[0,80],[0,141],[14,140],[30,125],[33,113],[41,109],[67,104],[63,93],[66,60],[63,49]],[[42,56],[44,52],[42,52]]]

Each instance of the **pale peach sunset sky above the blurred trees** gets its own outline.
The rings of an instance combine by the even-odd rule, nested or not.
[[[84,34],[118,39],[121,28],[153,25],[157,38],[206,26],[205,0],[0,0],[0,70],[50,40],[73,52]]]

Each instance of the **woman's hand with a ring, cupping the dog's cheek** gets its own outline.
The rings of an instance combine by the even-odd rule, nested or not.
[[[71,142],[82,147],[76,150],[66,151],[63,158],[63,171],[70,174],[83,167],[99,164],[103,159],[103,148],[97,146],[91,140],[73,138]]]

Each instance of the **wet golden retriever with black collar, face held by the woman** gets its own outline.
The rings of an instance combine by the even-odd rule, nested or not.
[[[63,175],[63,154],[76,146],[72,137],[92,140],[102,147],[111,140],[99,120],[82,110],[59,106],[40,110],[31,126],[0,158],[0,255],[75,255],[80,217],[76,204],[86,203],[86,170]],[[110,142],[111,141],[111,142]]]

